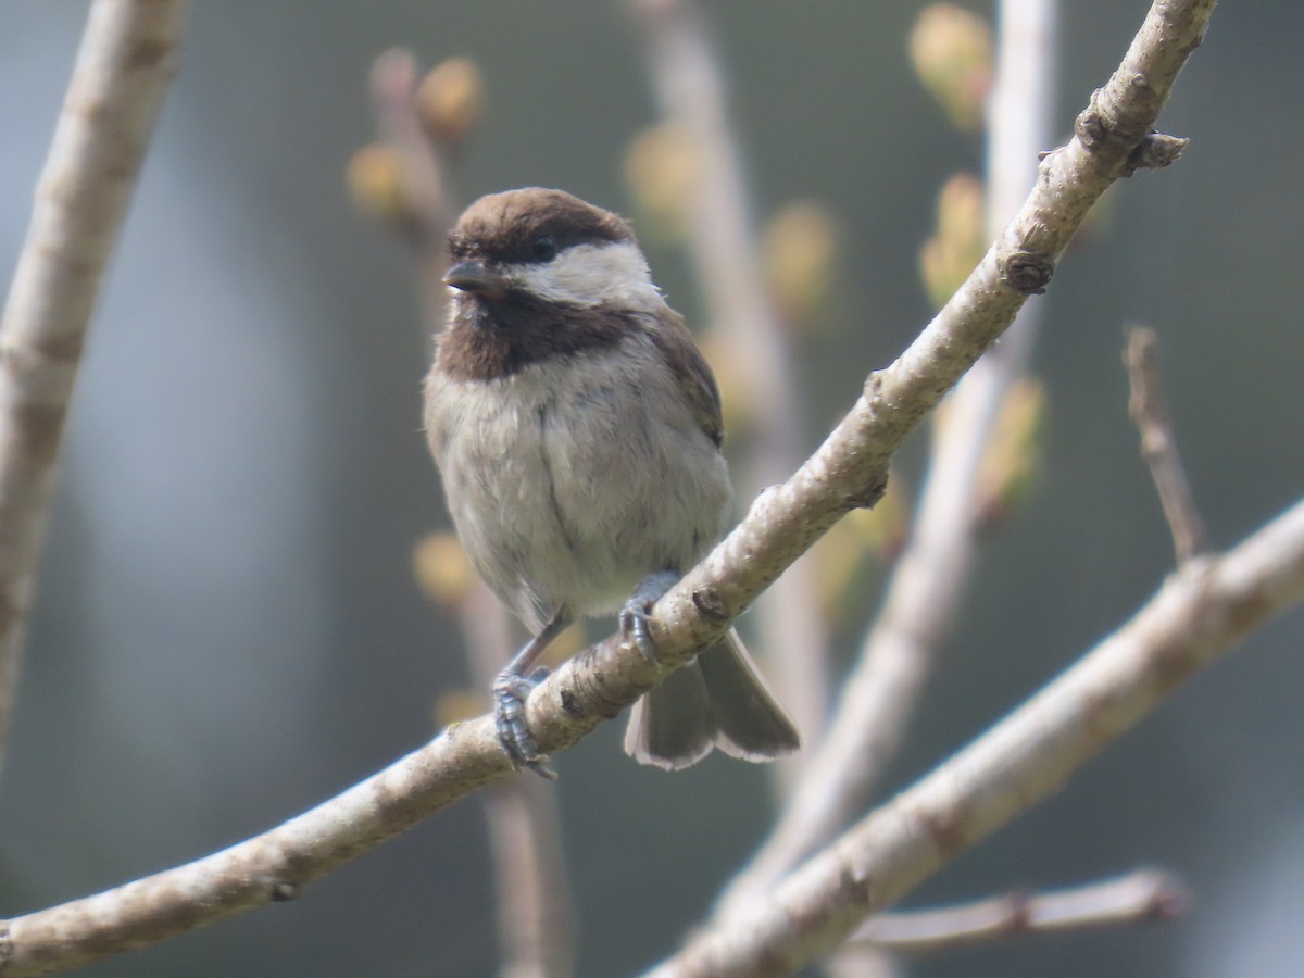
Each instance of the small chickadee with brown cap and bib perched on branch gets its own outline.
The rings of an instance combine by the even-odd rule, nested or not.
[[[471,563],[535,632],[494,683],[514,765],[550,776],[528,670],[576,617],[619,613],[649,659],[655,601],[720,539],[732,489],[720,393],[619,216],[561,190],[472,203],[449,235],[447,329],[425,424]],[[737,632],[643,696],[625,750],[689,767],[799,737]]]

